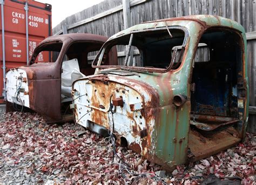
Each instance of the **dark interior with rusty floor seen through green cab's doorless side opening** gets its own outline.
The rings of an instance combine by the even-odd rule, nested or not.
[[[246,103],[240,35],[233,30],[211,29],[199,42],[207,45],[208,52],[196,54],[199,61],[193,62],[189,147],[194,158],[240,141]]]

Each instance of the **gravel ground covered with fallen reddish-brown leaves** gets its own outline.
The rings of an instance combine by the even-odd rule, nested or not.
[[[255,184],[255,136],[170,175],[140,155],[117,146],[125,163],[112,163],[112,145],[74,123],[46,124],[35,113],[0,107],[0,184],[199,184],[209,175]],[[85,132],[78,136],[78,132]],[[123,170],[122,170],[123,169]],[[127,169],[127,170],[126,170]]]

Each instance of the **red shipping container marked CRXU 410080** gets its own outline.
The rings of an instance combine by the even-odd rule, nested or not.
[[[0,0],[3,2],[4,12],[4,40],[5,40],[5,71],[10,68],[26,65],[26,11],[28,3],[28,54],[46,37],[52,34],[51,5],[36,1]],[[1,4],[2,6],[2,4]],[[2,7],[1,7],[2,8]],[[2,9],[0,9],[2,15]],[[2,42],[2,16],[0,19],[0,91],[3,92],[3,42]],[[49,61],[49,53],[42,52],[38,56],[39,62]],[[4,103],[0,99],[0,103]]]

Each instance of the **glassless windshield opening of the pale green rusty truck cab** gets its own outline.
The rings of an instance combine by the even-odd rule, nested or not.
[[[166,72],[180,66],[185,44],[185,30],[180,27],[133,32],[106,42],[96,60],[93,61],[93,67],[97,65],[98,68]],[[172,55],[173,48],[176,46],[181,46],[181,52],[175,52]],[[107,65],[109,62],[106,62],[106,59],[111,49],[118,51],[117,66]]]

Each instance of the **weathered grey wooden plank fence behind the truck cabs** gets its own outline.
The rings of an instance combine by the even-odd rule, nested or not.
[[[105,0],[67,17],[53,28],[53,34],[93,33],[110,37],[142,22],[200,14],[230,18],[245,28],[251,106],[247,131],[255,133],[256,0]]]

